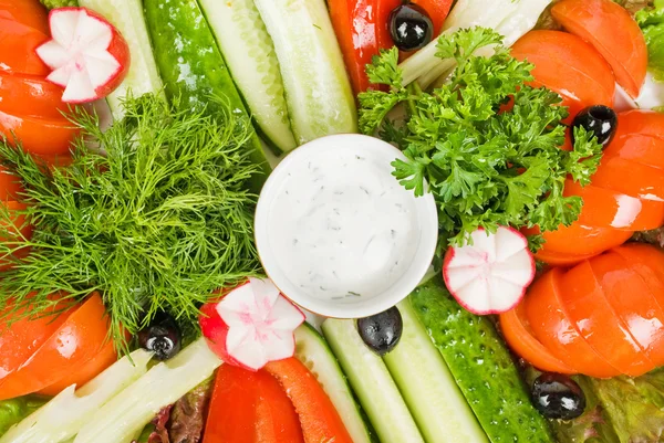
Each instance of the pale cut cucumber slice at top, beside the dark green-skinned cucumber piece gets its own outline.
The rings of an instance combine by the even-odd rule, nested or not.
[[[274,45],[253,0],[198,2],[263,138],[280,151],[294,149]]]

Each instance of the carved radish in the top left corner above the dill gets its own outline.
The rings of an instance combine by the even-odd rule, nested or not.
[[[53,70],[46,80],[64,87],[62,102],[93,102],[120,86],[129,48],[106,19],[85,8],[60,8],[50,12],[49,27],[52,40],[37,55]]]

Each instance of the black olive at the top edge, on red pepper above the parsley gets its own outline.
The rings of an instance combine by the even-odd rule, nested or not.
[[[417,4],[402,4],[390,14],[390,33],[401,51],[415,51],[432,41],[434,24]]]

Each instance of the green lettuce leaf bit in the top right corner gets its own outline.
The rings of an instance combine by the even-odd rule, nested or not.
[[[636,22],[647,44],[649,70],[657,82],[664,82],[664,0],[636,12]]]

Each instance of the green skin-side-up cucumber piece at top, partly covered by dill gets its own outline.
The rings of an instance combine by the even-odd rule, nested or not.
[[[207,106],[214,115],[226,109],[210,99],[217,96],[238,115],[249,118],[197,1],[144,0],[143,6],[168,99],[179,98],[184,108]],[[251,161],[260,168],[260,173],[251,178],[251,189],[260,192],[271,168],[256,134],[247,147],[251,149]]]

